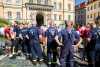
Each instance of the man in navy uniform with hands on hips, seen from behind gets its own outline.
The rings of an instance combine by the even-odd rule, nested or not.
[[[73,30],[73,22],[65,21],[66,28],[59,33],[59,45],[62,45],[60,52],[60,67],[74,67],[74,48],[80,39],[78,33]],[[57,38],[56,38],[57,39]],[[77,47],[76,45],[75,47]]]

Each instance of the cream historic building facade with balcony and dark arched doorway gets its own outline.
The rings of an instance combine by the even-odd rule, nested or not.
[[[0,0],[0,17],[13,22],[38,22],[47,25],[75,19],[74,0]]]

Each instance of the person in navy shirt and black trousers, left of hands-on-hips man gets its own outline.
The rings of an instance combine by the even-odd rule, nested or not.
[[[57,42],[55,37],[58,36],[58,30],[54,26],[52,21],[49,22],[49,27],[45,33],[47,40],[47,58],[48,58],[48,67],[52,67],[52,63],[57,61]]]

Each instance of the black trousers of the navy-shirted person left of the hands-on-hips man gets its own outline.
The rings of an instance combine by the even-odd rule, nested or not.
[[[57,46],[58,44],[55,40],[47,44],[47,58],[48,62],[51,62],[48,67],[56,67],[58,57]]]

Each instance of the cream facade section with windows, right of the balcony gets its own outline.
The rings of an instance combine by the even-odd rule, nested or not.
[[[70,18],[68,18],[70,16]],[[75,20],[74,0],[54,0],[53,20],[57,25],[63,24],[63,20]]]

